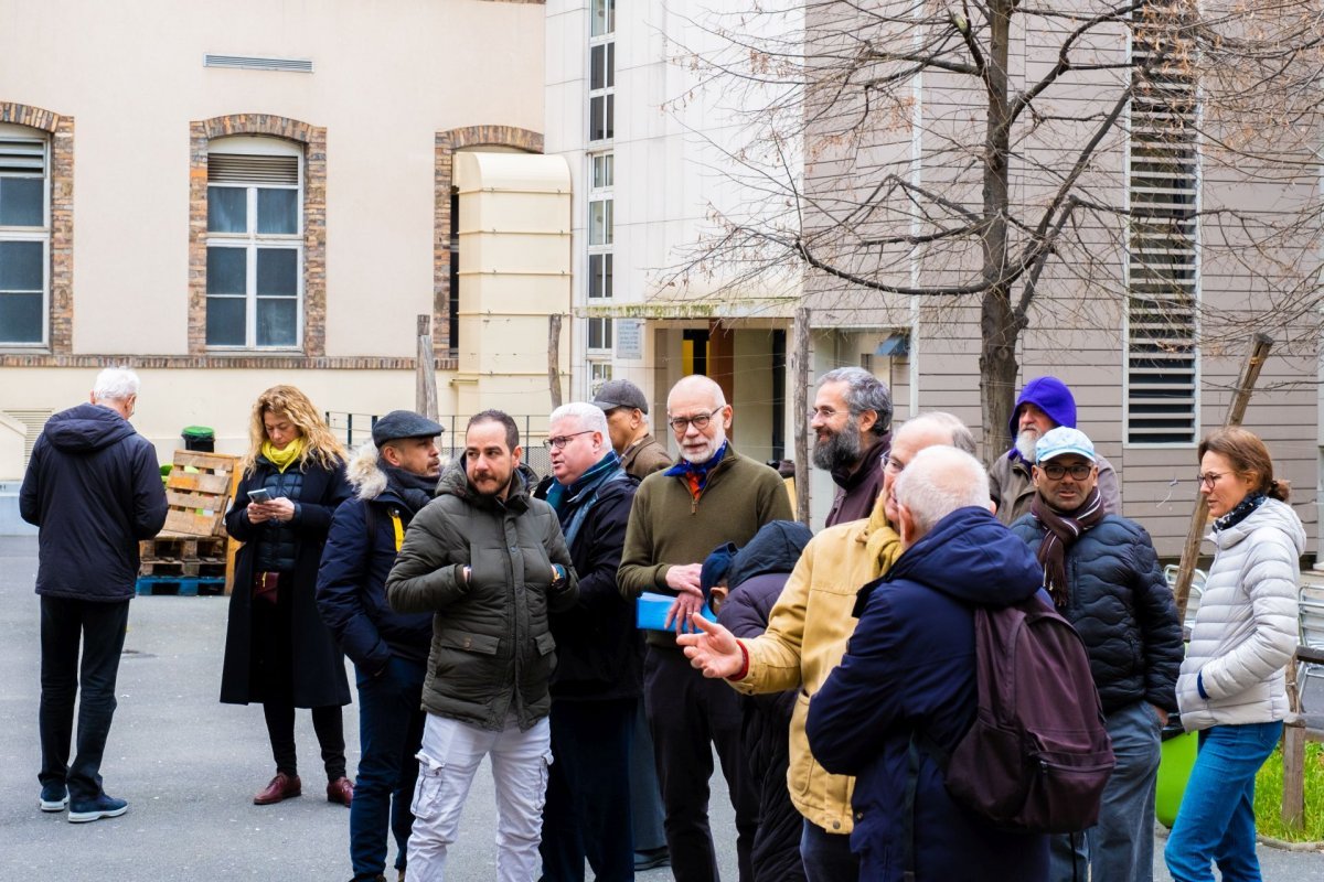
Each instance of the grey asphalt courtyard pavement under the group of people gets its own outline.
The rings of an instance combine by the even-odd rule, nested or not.
[[[102,774],[123,817],[69,824],[37,811],[38,604],[34,537],[0,537],[0,866],[7,879],[172,882],[348,879],[348,812],[326,801],[316,739],[298,714],[305,795],[253,805],[273,762],[257,705],[221,705],[226,598],[138,598],[119,669],[119,709]],[[352,677],[351,677],[352,680]],[[351,771],[357,710],[344,710]],[[720,775],[711,820],[723,878],[735,882],[735,826]],[[479,771],[448,878],[495,878],[491,776]],[[1166,881],[1162,842],[1155,878]],[[1270,882],[1320,882],[1324,854],[1260,848]],[[393,879],[393,875],[389,877]],[[588,878],[592,878],[589,874]],[[638,875],[671,878],[669,870]],[[1014,882],[1014,881],[1009,881]]]

